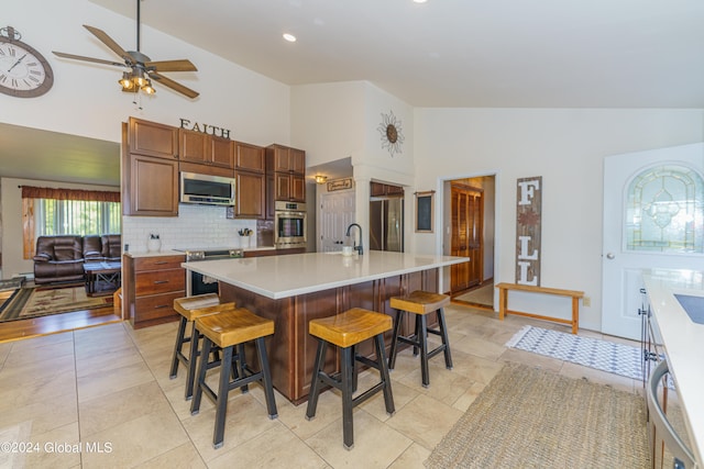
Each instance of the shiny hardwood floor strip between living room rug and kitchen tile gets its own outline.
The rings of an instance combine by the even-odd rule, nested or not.
[[[114,314],[112,308],[8,321],[0,323],[0,343],[117,323],[120,321],[122,321],[122,319]]]

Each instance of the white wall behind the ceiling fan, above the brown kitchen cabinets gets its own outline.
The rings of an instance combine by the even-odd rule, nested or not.
[[[41,12],[41,13],[37,13]],[[168,125],[179,118],[231,130],[231,137],[268,145],[289,144],[289,87],[142,24],[142,52],[154,60],[188,58],[197,72],[166,74],[200,92],[195,100],[155,85],[156,94],[123,93],[122,68],[56,57],[59,51],[118,59],[82,24],[103,30],[125,49],[135,47],[135,22],[87,0],[3,2],[3,26],[12,25],[54,69],[54,87],[44,96],[0,94],[0,122],[120,142],[120,122],[130,115]]]

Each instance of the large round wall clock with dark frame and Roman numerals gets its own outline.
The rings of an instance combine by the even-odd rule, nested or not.
[[[35,98],[54,85],[48,62],[20,40],[12,26],[0,29],[0,92],[15,98]]]

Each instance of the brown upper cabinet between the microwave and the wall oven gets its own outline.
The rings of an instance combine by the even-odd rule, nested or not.
[[[264,148],[242,142],[234,144],[237,202],[228,208],[229,219],[266,217]]]

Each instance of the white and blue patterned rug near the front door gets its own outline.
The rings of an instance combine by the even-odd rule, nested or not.
[[[639,347],[534,326],[520,330],[506,346],[627,378],[642,378],[642,350]]]

